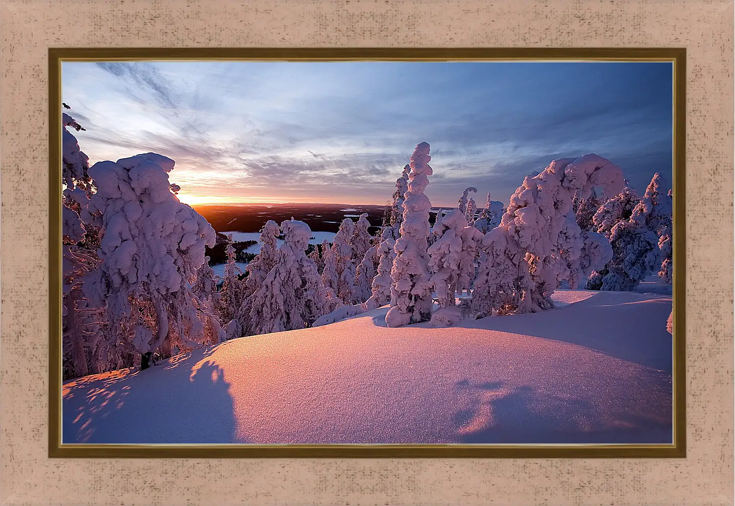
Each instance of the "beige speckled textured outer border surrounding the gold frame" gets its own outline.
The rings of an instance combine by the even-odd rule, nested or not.
[[[733,504],[731,1],[2,0],[3,505]],[[685,46],[686,460],[49,460],[49,46]]]

